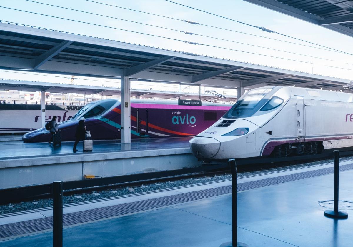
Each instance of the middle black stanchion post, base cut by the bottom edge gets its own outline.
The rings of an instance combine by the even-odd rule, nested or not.
[[[232,242],[222,243],[220,247],[249,247],[238,242],[238,212],[237,212],[237,165],[235,159],[229,159],[228,165],[232,172]]]

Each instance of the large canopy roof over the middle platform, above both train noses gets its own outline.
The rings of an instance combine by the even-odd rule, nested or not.
[[[0,68],[204,86],[341,89],[346,79],[0,23]]]

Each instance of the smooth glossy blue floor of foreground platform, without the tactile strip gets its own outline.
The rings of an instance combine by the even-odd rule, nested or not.
[[[343,168],[345,167],[346,170]],[[353,166],[342,166],[340,173],[340,200],[353,199]],[[298,171],[297,179],[280,182],[281,177],[294,176],[292,171],[283,176],[261,179],[257,188],[238,192],[238,240],[249,246],[352,246],[353,212],[345,207],[348,219],[334,220],[324,216],[328,208],[320,201],[333,199],[333,174],[331,168],[317,167],[316,171]],[[344,170],[344,171],[343,171]],[[312,177],[300,179],[303,174]],[[253,183],[253,181],[241,184]],[[180,190],[171,197],[187,198],[188,193],[211,192],[229,188],[223,186],[190,192]],[[185,196],[183,196],[185,194]],[[147,211],[128,213],[95,222],[76,224],[64,229],[64,246],[220,246],[231,241],[231,194],[159,207]],[[159,198],[159,200],[162,200]],[[145,206],[148,207],[147,199]],[[131,202],[126,205],[137,205]],[[117,205],[119,206],[119,205]],[[108,208],[108,207],[106,207]],[[104,208],[102,208],[104,209]],[[86,214],[84,212],[87,212]],[[81,217],[92,217],[82,211]],[[0,223],[1,225],[1,223]],[[52,232],[18,237],[0,242],[8,246],[50,246]]]

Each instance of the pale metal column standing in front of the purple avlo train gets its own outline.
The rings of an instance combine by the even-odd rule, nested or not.
[[[121,77],[121,143],[131,143],[130,79]]]

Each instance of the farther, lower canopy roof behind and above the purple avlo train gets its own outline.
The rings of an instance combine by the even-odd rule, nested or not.
[[[0,90],[18,90],[25,92],[52,92],[52,93],[72,93],[72,94],[99,94],[106,96],[120,96],[121,88],[73,85],[64,83],[33,82],[27,80],[5,80],[0,79]],[[131,89],[131,96],[148,98],[179,98],[179,93],[175,91],[149,90],[149,89]],[[201,94],[202,101],[236,101],[236,95],[224,95],[225,98],[212,94]],[[195,92],[181,92],[180,98],[198,100],[200,95]]]

